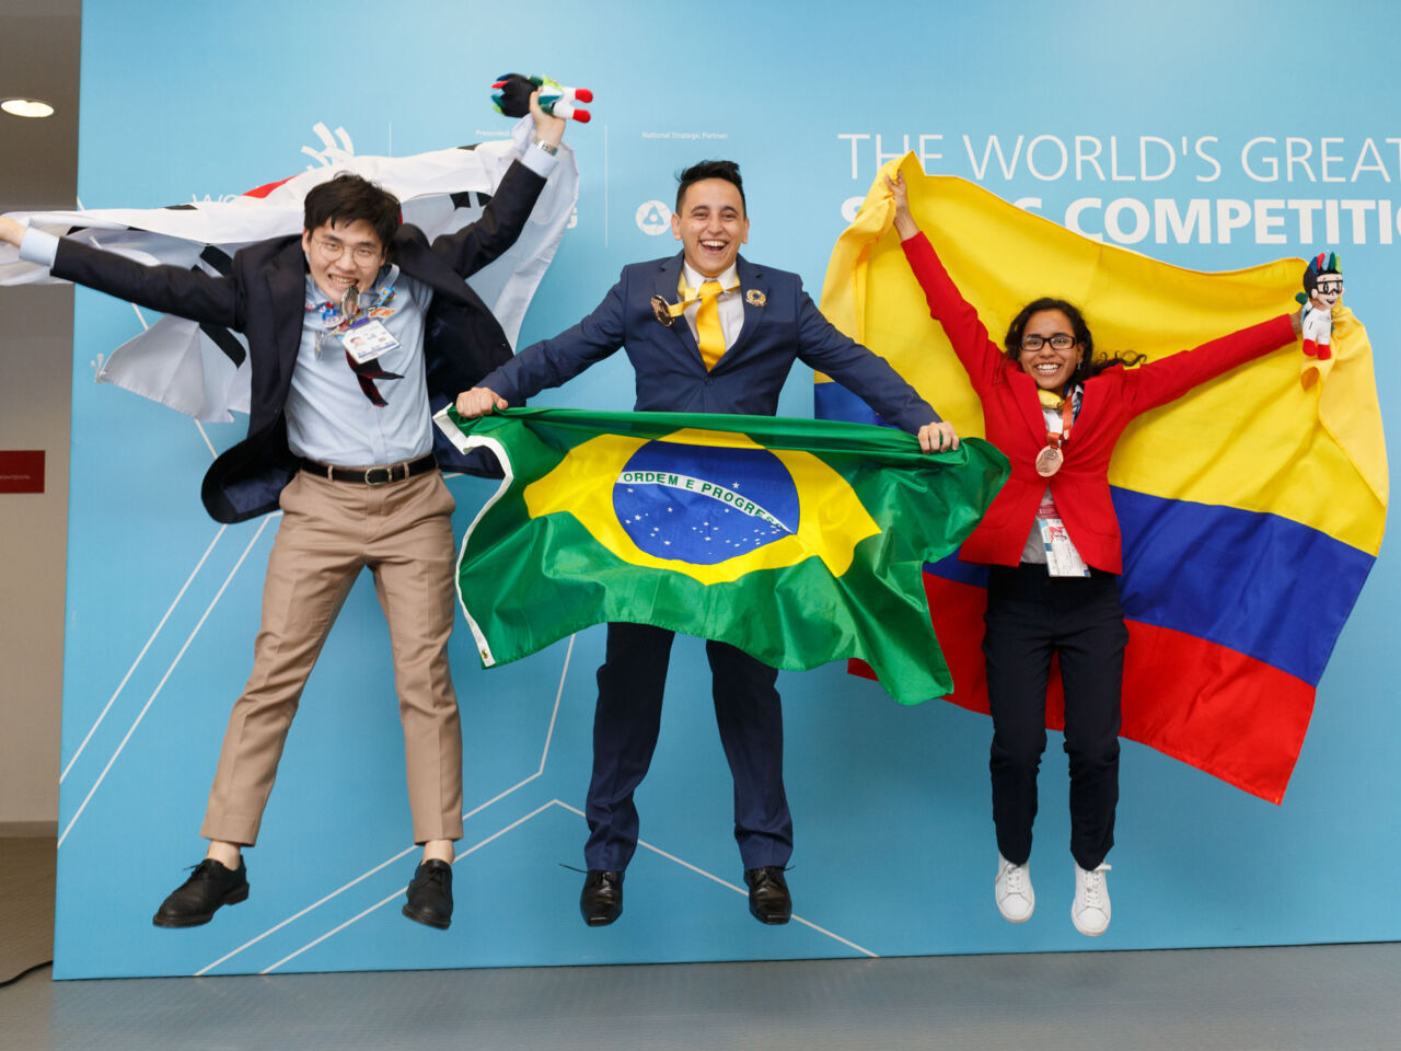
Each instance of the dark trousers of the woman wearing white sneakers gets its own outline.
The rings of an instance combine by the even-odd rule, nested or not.
[[[992,820],[998,849],[1013,865],[1031,856],[1037,771],[1047,747],[1051,656],[1065,685],[1070,757],[1070,853],[1094,869],[1114,845],[1119,800],[1119,694],[1128,628],[1114,573],[1054,577],[1045,566],[993,566],[988,580],[992,708]]]

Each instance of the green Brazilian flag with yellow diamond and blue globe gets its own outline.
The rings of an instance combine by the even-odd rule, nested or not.
[[[629,621],[790,671],[860,657],[902,703],[953,691],[922,568],[1006,481],[986,441],[926,454],[888,427],[674,412],[447,409],[439,425],[506,474],[458,561],[483,666]]]

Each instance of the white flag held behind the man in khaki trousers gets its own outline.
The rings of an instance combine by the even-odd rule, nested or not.
[[[433,240],[481,217],[516,153],[530,144],[531,128],[525,118],[513,139],[410,157],[347,156],[233,200],[13,216],[147,265],[172,263],[220,275],[228,272],[234,252],[244,245],[300,233],[307,191],[353,172],[394,193],[403,205],[403,221]],[[469,282],[513,343],[579,199],[573,151],[560,146],[559,157],[516,244]],[[43,266],[22,262],[14,248],[0,245],[0,284],[53,280]],[[248,343],[241,334],[171,315],[115,348],[97,370],[98,383],[209,422],[228,422],[231,412],[248,412]]]

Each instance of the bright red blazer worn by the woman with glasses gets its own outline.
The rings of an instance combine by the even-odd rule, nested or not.
[[[950,280],[923,234],[902,242],[905,258],[925,289],[929,312],[940,322],[982,401],[988,440],[1012,461],[1002,486],[958,558],[1014,566],[1037,517],[1048,479],[1034,461],[1047,444],[1045,418],[1037,384],[1007,360],[988,338],[978,312]],[[1129,420],[1140,412],[1180,398],[1192,387],[1238,364],[1295,342],[1288,314],[1213,339],[1138,369],[1114,366],[1084,384],[1080,415],[1061,451],[1065,461],[1049,478],[1051,493],[1084,562],[1110,573],[1124,570],[1119,521],[1110,499],[1110,455]]]

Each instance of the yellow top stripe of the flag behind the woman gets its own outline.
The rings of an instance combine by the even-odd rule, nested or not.
[[[884,165],[832,251],[822,312],[885,356],[953,420],[982,434],[982,409],[894,231],[884,177],[899,170],[915,220],[1000,342],[1038,296],[1075,303],[1100,353],[1157,360],[1293,311],[1304,262],[1206,273],[1075,234],[913,154]],[[1110,482],[1178,500],[1279,514],[1376,554],[1388,497],[1386,444],[1366,329],[1339,310],[1334,359],[1268,355],[1133,422]],[[827,377],[818,377],[818,383]]]

